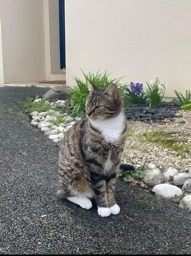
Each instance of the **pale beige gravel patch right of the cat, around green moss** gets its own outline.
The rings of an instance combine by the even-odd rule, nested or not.
[[[187,172],[191,167],[191,111],[180,110],[177,112],[181,118],[176,118],[174,122],[165,119],[159,123],[130,122],[129,135],[126,141],[126,157],[130,158],[134,163],[154,163],[157,167],[167,168],[174,167],[180,172]],[[169,138],[175,138],[183,146],[189,147],[189,151],[180,155],[177,149],[168,149],[157,145],[157,143],[148,142],[144,138],[144,133],[151,131],[164,131],[170,134]],[[170,137],[171,136],[171,137]]]

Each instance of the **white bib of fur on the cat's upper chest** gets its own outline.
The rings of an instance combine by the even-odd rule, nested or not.
[[[111,120],[90,120],[91,124],[98,129],[107,142],[116,141],[124,130],[124,113],[120,113]]]

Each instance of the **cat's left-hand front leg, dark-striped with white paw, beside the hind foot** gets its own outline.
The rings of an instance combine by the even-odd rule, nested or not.
[[[90,171],[91,182],[95,192],[95,200],[98,206],[98,214],[101,217],[108,217],[111,211],[108,206],[107,194],[106,194],[106,180],[104,176],[100,176],[97,172]]]

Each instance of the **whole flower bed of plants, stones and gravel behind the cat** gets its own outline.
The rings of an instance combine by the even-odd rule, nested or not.
[[[55,102],[29,99],[26,108],[31,125],[41,129],[53,142],[60,144],[65,132],[83,118],[85,99],[89,93],[87,80],[99,81],[102,87],[119,80],[104,75],[86,76],[86,82],[75,78],[76,87],[69,92],[70,100]],[[141,84],[118,84],[126,106],[128,136],[122,162],[134,165],[134,171],[120,170],[127,182],[149,189],[181,207],[191,209],[191,112],[180,105],[191,105],[190,92],[176,102],[163,102],[164,85],[159,78],[148,85],[147,94]],[[158,96],[157,96],[158,95]],[[153,101],[156,98],[156,102]],[[189,109],[186,107],[186,109]],[[143,121],[143,122],[140,122]],[[162,121],[162,122],[161,122]],[[125,165],[124,165],[125,167]]]

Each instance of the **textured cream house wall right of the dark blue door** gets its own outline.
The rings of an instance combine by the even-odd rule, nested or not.
[[[65,0],[67,85],[108,69],[123,81],[165,81],[166,96],[191,89],[191,2]]]

